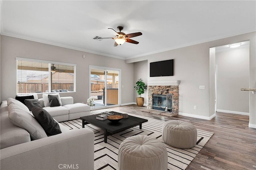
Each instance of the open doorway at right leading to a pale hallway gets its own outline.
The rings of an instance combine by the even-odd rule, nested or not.
[[[248,87],[250,82],[250,41],[234,44],[240,46],[231,48],[233,44],[229,44],[210,48],[214,52],[210,53],[210,68],[215,73],[215,111],[249,115],[249,94],[240,89]]]

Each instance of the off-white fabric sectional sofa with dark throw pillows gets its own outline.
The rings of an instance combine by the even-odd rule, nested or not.
[[[90,114],[90,108],[73,104],[70,97],[63,97],[63,106],[48,109],[60,121],[76,119]],[[25,121],[35,121],[28,108],[17,100],[1,102],[0,109],[0,165],[1,170],[57,170],[72,167],[81,170],[94,169],[94,132],[88,128],[69,130],[58,123],[62,133],[32,141],[30,133],[10,121],[10,114],[20,112],[30,116]],[[40,102],[42,106],[42,101]],[[14,106],[8,108],[8,105]],[[26,110],[26,111],[24,111]],[[10,113],[12,112],[12,113]],[[40,124],[39,124],[40,126]],[[38,129],[42,128],[36,126]],[[44,129],[42,129],[44,131]]]

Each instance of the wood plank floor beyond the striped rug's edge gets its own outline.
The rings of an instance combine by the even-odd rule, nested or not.
[[[142,112],[144,107],[128,105],[111,109],[158,119],[190,121],[197,129],[214,132],[187,170],[256,170],[256,129],[249,128],[249,116],[216,112],[212,120],[178,115],[167,117]]]

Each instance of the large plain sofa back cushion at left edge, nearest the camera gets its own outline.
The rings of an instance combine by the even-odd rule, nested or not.
[[[6,104],[6,107],[7,107],[7,104]],[[30,134],[28,133],[28,131],[12,124],[12,122],[8,117],[8,114],[1,116],[0,125],[1,125],[0,149],[4,149],[7,147],[11,147],[14,145],[31,141]]]

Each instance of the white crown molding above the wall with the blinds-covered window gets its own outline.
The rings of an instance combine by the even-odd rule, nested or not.
[[[2,26],[2,25],[1,25],[1,26]],[[45,40],[43,40],[43,39],[32,38],[32,37],[28,37],[28,36],[25,36],[25,35],[18,35],[18,34],[10,33],[10,32],[7,32],[7,31],[2,31],[1,35],[6,35],[6,36],[9,36],[9,37],[14,37],[14,38],[19,38],[19,39],[25,39],[25,40],[34,41],[34,42],[37,42],[37,43],[43,43],[43,44],[48,44],[48,45],[54,45],[54,46],[63,47],[63,48],[67,48],[67,49],[72,49],[72,50],[77,50],[77,51],[83,51],[83,52],[87,52],[87,53],[102,55],[102,56],[105,56],[105,57],[112,57],[112,58],[124,60],[124,58],[117,57],[117,56],[114,56],[114,55],[107,55],[107,54],[104,54],[104,53],[98,53],[98,52],[90,51],[90,50],[87,50],[87,49],[82,49],[82,48],[73,47],[73,46],[71,46],[71,45],[60,44],[60,43],[56,43],[56,42],[52,42],[52,41],[45,41]]]

